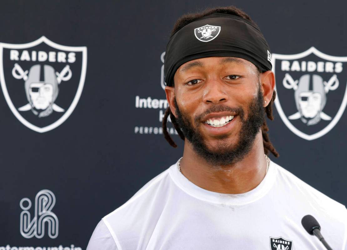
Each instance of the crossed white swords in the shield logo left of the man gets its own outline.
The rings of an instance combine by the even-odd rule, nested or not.
[[[29,73],[29,71],[28,70],[24,71],[22,69],[22,67],[19,66],[18,63],[15,63],[15,66],[12,69],[12,76],[16,79],[23,79],[24,81],[26,81],[26,80],[28,80],[28,73]],[[56,76],[57,76],[58,84],[60,84],[62,81],[70,80],[71,76],[72,76],[70,66],[66,65],[60,73],[56,72]],[[31,109],[32,109],[32,105],[30,103],[25,104],[24,106],[18,108],[19,111],[28,111]],[[52,104],[52,109],[56,112],[64,112],[65,111],[63,108],[59,107],[55,103]]]

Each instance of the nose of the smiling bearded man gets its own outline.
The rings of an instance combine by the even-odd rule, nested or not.
[[[223,83],[218,80],[210,81],[203,90],[203,102],[206,104],[219,104],[226,102],[228,95],[223,87]]]

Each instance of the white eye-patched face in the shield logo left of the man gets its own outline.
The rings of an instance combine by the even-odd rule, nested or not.
[[[32,83],[29,95],[35,109],[45,110],[53,101],[53,86],[49,83]]]

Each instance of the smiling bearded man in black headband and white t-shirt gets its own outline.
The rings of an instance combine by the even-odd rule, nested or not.
[[[301,219],[312,214],[333,249],[346,248],[346,208],[270,162],[275,98],[271,54],[235,7],[180,18],[164,63],[183,157],[105,216],[87,250],[323,249]],[[165,133],[170,145],[176,144]]]

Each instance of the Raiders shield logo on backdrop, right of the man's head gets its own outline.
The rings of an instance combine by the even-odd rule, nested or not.
[[[297,136],[314,140],[340,120],[347,104],[347,57],[314,47],[294,55],[272,54],[276,109]]]

